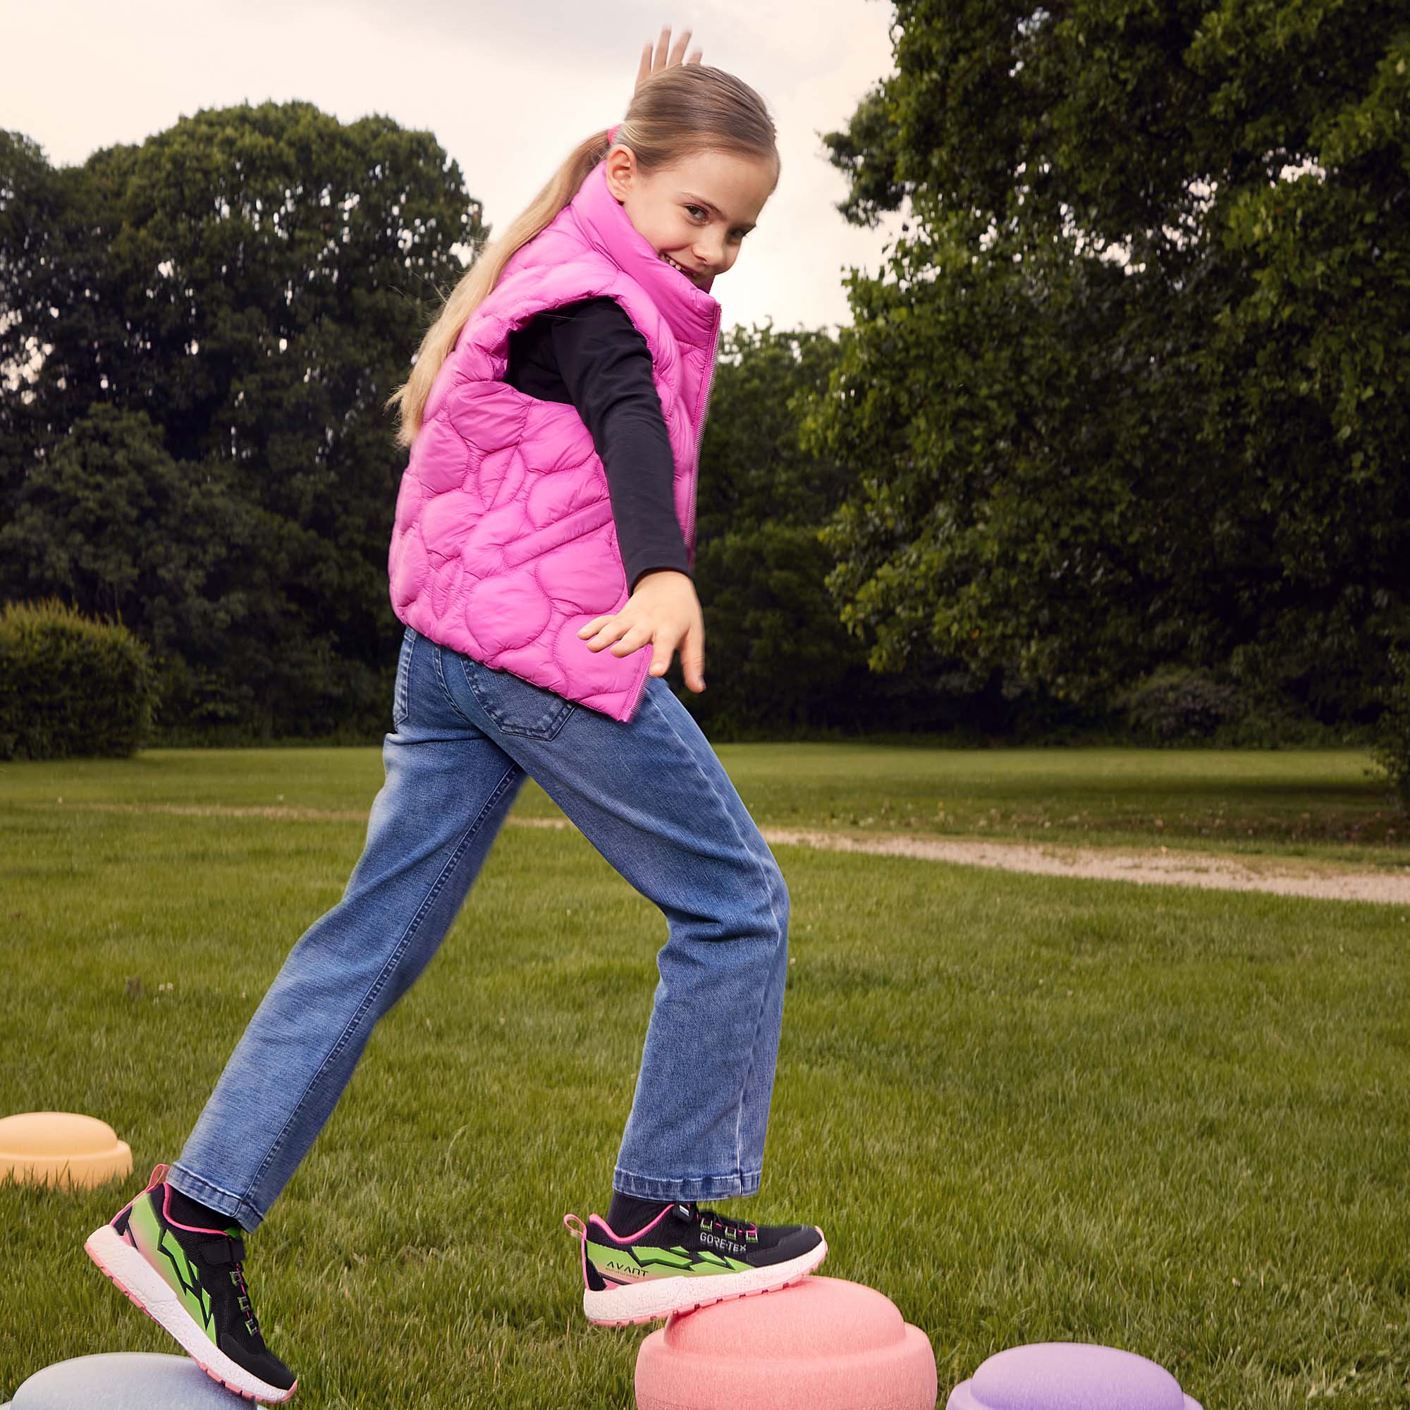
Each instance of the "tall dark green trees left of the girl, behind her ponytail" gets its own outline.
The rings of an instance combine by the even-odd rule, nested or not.
[[[384,117],[203,110],[58,171],[0,134],[4,595],[121,613],[173,718],[381,719],[384,402],[485,238]]]

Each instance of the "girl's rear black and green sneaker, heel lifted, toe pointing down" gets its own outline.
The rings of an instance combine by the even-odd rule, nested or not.
[[[264,1344],[245,1287],[244,1230],[193,1228],[169,1213],[169,1167],[83,1244],[89,1258],[152,1321],[165,1327],[207,1376],[250,1400],[293,1394],[293,1372]]]

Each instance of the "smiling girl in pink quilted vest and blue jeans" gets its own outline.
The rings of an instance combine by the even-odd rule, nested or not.
[[[668,922],[606,1218],[564,1220],[588,1320],[783,1287],[826,1253],[814,1225],[699,1204],[759,1190],[788,890],[661,680],[680,649],[705,688],[689,570],[709,290],[778,171],[739,79],[698,62],[651,73],[465,274],[392,399],[410,448],[389,553],[406,629],[365,849],[179,1159],[86,1245],[245,1396],[286,1400],[296,1382],[259,1332],[243,1235],[434,955],[527,776]]]

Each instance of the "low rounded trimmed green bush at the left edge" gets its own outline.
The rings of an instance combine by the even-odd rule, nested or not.
[[[151,653],[58,598],[0,608],[0,759],[127,757],[151,729]]]

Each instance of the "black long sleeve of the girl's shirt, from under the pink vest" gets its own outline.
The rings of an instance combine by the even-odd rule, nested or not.
[[[578,409],[606,471],[629,591],[653,568],[689,575],[651,350],[622,305],[581,299],[536,314],[509,334],[505,381]]]

